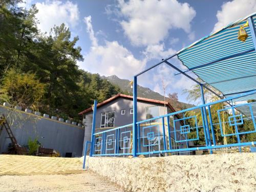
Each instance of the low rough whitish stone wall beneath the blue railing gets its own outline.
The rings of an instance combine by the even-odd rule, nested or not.
[[[87,157],[86,165],[128,191],[256,191],[256,153]]]

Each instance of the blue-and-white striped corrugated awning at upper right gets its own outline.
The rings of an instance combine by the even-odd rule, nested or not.
[[[245,42],[238,39],[240,25],[249,20]],[[194,72],[224,96],[256,90],[256,12],[237,20],[177,53],[187,71]],[[249,98],[250,97],[250,98]],[[252,95],[246,99],[256,99]]]

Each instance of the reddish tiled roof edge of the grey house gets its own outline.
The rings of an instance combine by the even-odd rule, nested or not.
[[[106,99],[106,100],[98,103],[97,108],[99,108],[100,106],[102,106],[102,105],[104,105],[104,104],[106,104],[110,101],[113,101],[114,99],[119,98],[119,97],[127,98],[127,99],[133,99],[133,96],[131,96],[131,95],[124,95],[124,94],[119,93],[119,94],[117,94],[117,95],[115,95],[115,96],[113,96],[109,99]],[[168,108],[172,112],[175,112],[175,109],[173,108],[173,106],[170,105],[170,103],[167,102],[167,101],[159,101],[159,100],[155,100],[155,99],[147,99],[147,98],[142,98],[142,97],[137,97],[137,101],[145,101],[145,102],[149,102],[149,103],[157,103],[157,104],[163,104],[163,105],[165,104],[166,106],[168,106]],[[91,112],[91,111],[93,111],[92,107],[80,112],[79,115],[86,114],[86,113]]]

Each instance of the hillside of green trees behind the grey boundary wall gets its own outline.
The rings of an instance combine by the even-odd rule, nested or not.
[[[36,7],[26,10],[18,2],[0,1],[0,102],[77,119],[94,99],[120,92],[98,74],[78,69],[83,57],[69,28],[41,33]]]

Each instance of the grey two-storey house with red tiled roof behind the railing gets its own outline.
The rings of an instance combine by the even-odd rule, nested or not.
[[[137,97],[137,121],[151,119],[154,117],[158,117],[158,116],[173,113],[173,112],[175,112],[175,109],[172,107],[172,105],[170,105],[169,102]],[[85,127],[85,131],[84,131],[84,143],[85,143],[86,141],[91,140],[92,121],[93,121],[92,107],[80,112],[79,115],[83,116],[83,125]],[[175,115],[173,118],[170,118],[171,131],[174,130],[173,128],[174,119],[180,119],[180,117],[178,115]],[[175,124],[177,130],[180,129],[179,122],[181,121],[178,121]],[[99,133],[104,130],[110,130],[119,126],[131,124],[131,123],[133,123],[133,96],[117,94],[97,104],[95,133]],[[148,131],[146,130],[146,128],[149,127],[148,122],[146,123],[147,124],[141,124],[140,126],[140,133],[141,133],[140,140],[141,140],[141,147],[142,147],[141,152],[162,150],[161,148],[163,146],[161,145],[163,145],[162,144],[163,129],[161,125],[161,118],[155,120],[154,122],[150,122],[155,124],[150,126],[150,130],[151,130],[150,133],[148,133]],[[130,132],[129,130],[132,130],[132,126],[125,127],[125,130],[126,132]],[[152,139],[151,141],[148,141],[148,134],[151,134],[152,132],[153,132],[153,135],[154,133],[155,133],[155,136],[158,135],[158,139],[156,141],[154,141],[154,139]],[[168,137],[167,137],[168,132],[167,132],[166,123],[165,123],[165,133],[166,133],[166,142],[168,143]],[[115,140],[114,133],[112,133],[112,135],[113,135],[112,140]],[[127,136],[127,135],[126,136],[123,135],[123,136],[125,139],[130,140],[130,145],[131,145],[131,139],[132,139],[131,132],[130,132],[130,136]],[[172,141],[173,149],[186,147],[185,146],[186,142],[175,142],[174,133],[171,134],[171,137],[172,137],[171,141]],[[180,137],[183,138],[180,140],[185,139],[183,135],[180,135]],[[100,138],[101,137],[99,138],[96,137],[95,142],[100,143]],[[154,138],[157,138],[157,137],[154,137]],[[151,142],[151,143],[148,143],[148,142]],[[155,144],[152,144],[153,142]],[[120,150],[123,149],[123,153],[125,152],[124,149],[131,148],[130,146],[126,146],[126,147],[122,146],[124,144],[125,144],[124,142],[120,144]],[[96,150],[96,151],[100,151],[100,150]],[[125,153],[128,153],[128,151],[129,150],[126,150]]]

